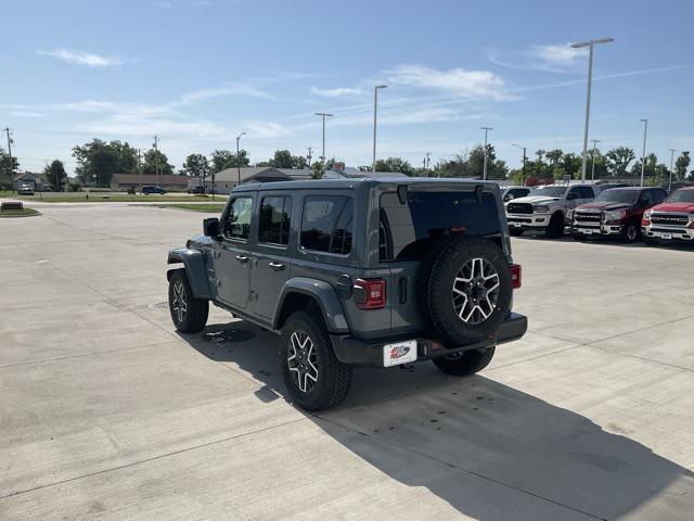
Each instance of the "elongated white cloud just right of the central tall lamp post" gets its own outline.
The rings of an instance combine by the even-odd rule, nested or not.
[[[490,71],[438,71],[424,65],[401,65],[386,74],[391,84],[444,90],[470,99],[509,99],[504,80]]]

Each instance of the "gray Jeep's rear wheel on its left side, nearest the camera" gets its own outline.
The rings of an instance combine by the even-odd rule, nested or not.
[[[280,364],[295,404],[306,410],[339,405],[351,385],[351,366],[340,363],[322,320],[296,312],[282,328]]]

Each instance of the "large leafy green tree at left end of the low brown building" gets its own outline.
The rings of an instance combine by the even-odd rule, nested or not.
[[[133,173],[137,152],[127,142],[92,139],[81,147],[73,147],[77,160],[75,174],[83,186],[108,187],[114,174]]]

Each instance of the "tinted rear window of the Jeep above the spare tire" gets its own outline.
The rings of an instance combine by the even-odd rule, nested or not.
[[[432,243],[449,233],[500,236],[493,193],[409,191],[408,204],[397,193],[381,196],[381,260],[422,259]]]

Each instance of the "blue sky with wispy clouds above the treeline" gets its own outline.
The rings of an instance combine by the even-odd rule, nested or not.
[[[582,144],[587,52],[595,52],[591,139],[640,155],[694,149],[694,3],[686,1],[165,0],[5,1],[0,126],[23,168],[93,137],[146,149],[157,134],[176,166],[192,152],[242,147],[371,161],[373,86],[378,156],[415,165],[483,139],[511,166]],[[3,140],[2,140],[3,142]],[[4,147],[4,142],[3,142]]]

